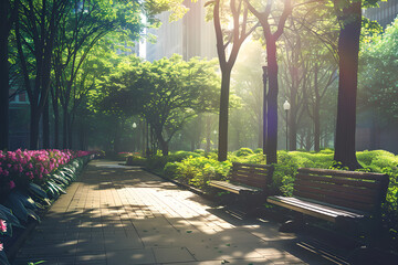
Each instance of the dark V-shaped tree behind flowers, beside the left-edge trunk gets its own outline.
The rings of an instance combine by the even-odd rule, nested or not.
[[[21,0],[15,39],[30,102],[30,148],[38,148],[39,120],[50,91],[51,57],[67,0]]]

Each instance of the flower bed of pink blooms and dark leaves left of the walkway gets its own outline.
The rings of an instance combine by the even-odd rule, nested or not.
[[[65,193],[95,156],[73,150],[0,151],[0,264],[9,264],[3,250],[8,248],[1,242],[10,241],[14,227],[24,229],[32,220],[40,221],[38,211]]]

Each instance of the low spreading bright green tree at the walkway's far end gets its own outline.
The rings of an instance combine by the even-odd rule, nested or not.
[[[147,100],[142,115],[154,129],[163,155],[167,156],[169,141],[188,120],[214,109],[218,96],[214,62],[197,57],[184,62],[174,55],[155,61],[147,74],[142,83]]]

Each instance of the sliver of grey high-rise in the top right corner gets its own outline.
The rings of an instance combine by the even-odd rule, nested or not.
[[[364,11],[364,15],[370,20],[376,20],[385,29],[398,14],[398,0],[379,2],[378,8],[369,8]]]

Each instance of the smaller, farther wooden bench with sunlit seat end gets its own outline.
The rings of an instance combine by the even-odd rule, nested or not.
[[[211,180],[209,186],[235,194],[259,194],[266,192],[272,181],[273,166],[255,163],[232,163],[229,181]]]

